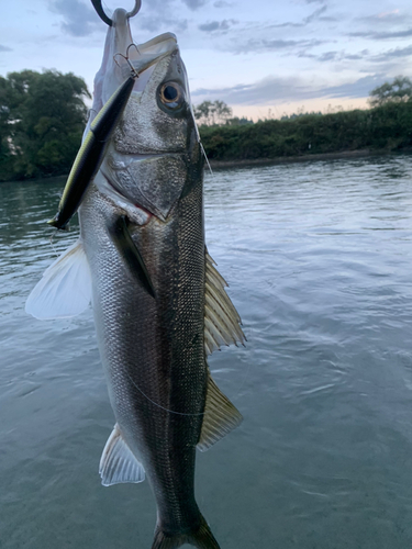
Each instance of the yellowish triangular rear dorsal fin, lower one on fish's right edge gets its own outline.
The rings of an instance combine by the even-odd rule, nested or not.
[[[242,414],[221,392],[209,372],[203,424],[198,442],[199,450],[209,450],[211,446],[241,425],[242,419]]]

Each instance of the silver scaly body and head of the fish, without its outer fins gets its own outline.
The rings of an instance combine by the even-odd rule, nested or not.
[[[170,113],[158,99],[167,82],[185,94]],[[142,96],[131,98],[99,175],[105,187],[93,186],[80,210],[118,435],[143,464],[157,502],[154,548],[185,541],[219,547],[193,486],[210,374],[204,350],[203,157],[186,87],[176,49],[156,66]],[[122,216],[155,296],[113,242],[111,227]]]

